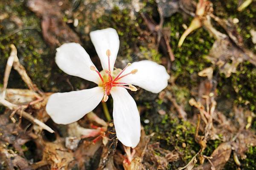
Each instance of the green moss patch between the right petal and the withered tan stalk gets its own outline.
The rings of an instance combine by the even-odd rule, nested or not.
[[[191,20],[192,17],[189,17],[188,20],[183,20],[182,15],[177,13],[169,17],[165,24],[171,30],[170,45],[175,55],[172,70],[175,76],[177,76],[177,83],[186,86],[188,84],[195,85],[197,82],[197,80],[191,78],[193,73],[197,73],[210,66],[209,61],[207,61],[204,55],[209,53],[214,43],[214,39],[209,36],[207,31],[200,28],[186,37],[183,45],[179,48],[177,44],[184,32],[182,24],[185,23],[189,26]]]

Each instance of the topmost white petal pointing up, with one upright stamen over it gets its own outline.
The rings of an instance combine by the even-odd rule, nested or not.
[[[96,30],[90,32],[90,38],[99,56],[103,69],[108,69],[108,56],[106,52],[108,49],[110,50],[110,68],[112,72],[119,49],[119,37],[116,30],[113,28]]]

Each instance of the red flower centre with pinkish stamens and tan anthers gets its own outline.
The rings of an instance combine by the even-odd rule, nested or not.
[[[124,69],[122,69],[121,72],[118,73],[118,75],[116,75],[116,77],[113,76],[113,74],[111,74],[111,68],[110,68],[110,56],[111,56],[111,52],[108,49],[106,52],[106,55],[108,56],[108,69],[105,69],[105,73],[107,75],[107,77],[102,76],[100,74],[100,72],[96,69],[95,66],[90,66],[90,69],[97,72],[97,74],[99,75],[99,78],[102,81],[102,84],[99,84],[99,86],[102,86],[104,89],[104,97],[103,97],[103,101],[107,101],[108,100],[108,95],[110,94],[110,91],[112,89],[112,87],[123,87],[125,89],[129,89],[131,91],[137,91],[137,88],[131,84],[128,83],[122,83],[119,82],[119,80],[127,75],[131,75],[131,74],[135,74],[138,70],[137,69],[133,69],[131,70],[131,72],[122,75],[122,73],[125,71],[125,69],[128,66],[131,66],[131,63],[128,63]]]

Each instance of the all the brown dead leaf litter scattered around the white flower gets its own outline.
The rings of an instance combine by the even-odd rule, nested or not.
[[[64,1],[63,5],[60,2],[29,0],[28,7],[41,18],[42,35],[49,45],[57,47],[71,41],[81,43],[76,32],[62,20],[61,8],[68,3]],[[251,120],[255,115],[250,110],[236,105],[230,111],[234,118],[216,109],[218,82],[215,79],[214,69],[218,67],[220,73],[224,73],[228,78],[236,72],[239,63],[249,61],[255,66],[255,54],[244,47],[243,39],[234,23],[213,14],[210,1],[156,2],[160,15],[159,24],[149,14],[139,13],[150,32],[149,35],[154,39],[154,48],[158,50],[160,46],[166,52],[169,58],[168,64],[175,60],[175,55],[169,44],[168,27],[163,25],[165,17],[170,17],[176,12],[194,17],[184,36],[181,36],[179,46],[190,32],[200,27],[204,27],[215,38],[208,54],[212,66],[198,72],[201,81],[197,87],[197,95],[189,100],[191,107],[195,108],[194,117],[188,116],[184,111],[184,105],[177,102],[176,96],[173,95],[170,86],[175,85],[174,81],[170,81],[161,97],[171,103],[170,107],[177,112],[178,118],[190,121],[196,127],[194,138],[200,149],[189,162],[186,162],[187,164],[183,162],[184,166],[179,170],[221,170],[232,155],[236,164],[240,166],[239,159],[246,157],[248,147],[256,146],[255,131],[250,128]],[[212,25],[213,20],[225,30],[224,33],[215,29],[215,24]],[[15,46],[12,45],[11,49],[3,87],[0,87],[0,104],[6,107],[6,111],[0,115],[0,167],[22,170],[44,168],[164,170],[168,169],[171,162],[182,160],[182,153],[177,148],[166,149],[161,147],[160,142],[151,141],[154,133],[146,135],[142,126],[140,143],[134,148],[133,160],[128,163],[125,161],[124,148],[116,138],[113,123],[105,122],[94,112],[86,115],[86,122],[81,120],[66,127],[54,124],[45,112],[47,98],[51,93],[38,89],[29,78],[25,67],[20,64]],[[7,88],[12,68],[19,73],[28,89]],[[61,132],[61,129],[64,129],[66,134]],[[219,134],[222,136],[220,137]],[[204,155],[207,143],[216,139],[220,140],[221,144],[210,156]],[[29,150],[26,148],[29,142],[35,144],[33,152],[36,154],[31,159],[25,154]]]

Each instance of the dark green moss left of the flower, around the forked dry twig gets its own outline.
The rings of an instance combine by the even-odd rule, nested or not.
[[[80,88],[84,82],[81,78],[68,76],[56,66],[55,49],[49,47],[42,37],[41,19],[26,7],[26,3],[4,0],[0,2],[0,11],[9,14],[0,24],[0,72],[4,72],[9,46],[13,43],[20,63],[40,89],[62,92]],[[20,20],[22,27],[17,26],[12,18]],[[27,88],[16,71],[11,72],[8,87]]]

